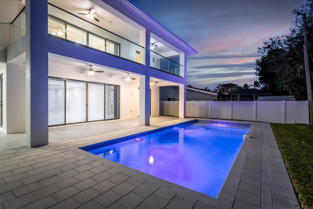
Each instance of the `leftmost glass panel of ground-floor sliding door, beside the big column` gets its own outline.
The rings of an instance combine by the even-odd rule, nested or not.
[[[65,123],[65,81],[63,79],[48,79],[48,124]]]

